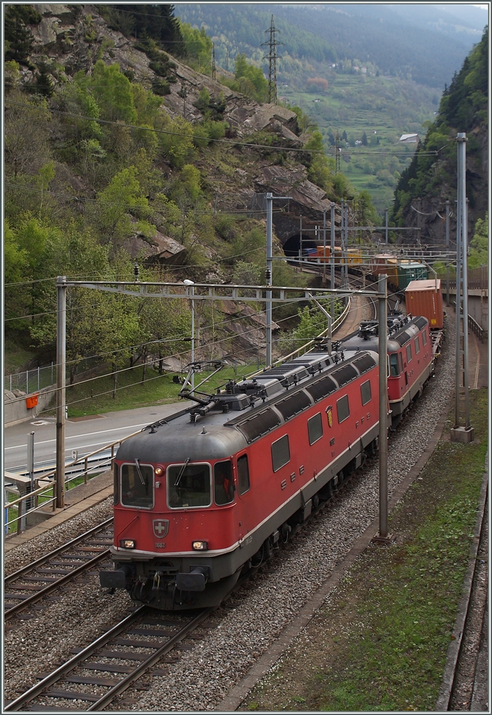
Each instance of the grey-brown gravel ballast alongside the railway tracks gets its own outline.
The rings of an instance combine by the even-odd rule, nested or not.
[[[391,435],[388,448],[388,493],[391,494],[406,473],[423,453],[438,419],[448,405],[454,383],[453,345],[454,326],[448,317],[447,344],[438,358],[436,378],[426,390],[408,418]],[[31,546],[19,547],[9,553],[9,568],[22,565],[22,558],[32,561],[68,538],[76,531],[95,526],[91,521],[96,509],[99,521],[109,516],[110,500],[101,503],[78,517],[86,519],[78,527],[58,527],[52,533],[36,539]],[[106,510],[106,511],[105,511]],[[214,619],[220,618],[217,628],[199,641],[192,651],[184,651],[176,664],[169,666],[166,676],[152,679],[151,689],[141,693],[129,690],[126,696],[137,699],[126,703],[122,711],[208,711],[214,710],[228,691],[246,674],[253,663],[278,637],[283,628],[293,621],[302,606],[329,576],[334,566],[350,550],[369,523],[378,514],[378,462],[371,460],[354,475],[335,501],[313,518],[293,541],[273,558],[263,573],[258,573],[246,587],[241,588],[225,606],[219,608]],[[71,529],[61,536],[64,528]],[[44,551],[42,551],[42,543]],[[46,544],[49,543],[49,548]],[[35,555],[34,555],[35,553]],[[16,566],[11,560],[18,558]],[[267,571],[268,569],[268,571]],[[116,591],[108,596],[101,590],[97,577],[90,583],[62,593],[39,617],[24,622],[20,628],[6,634],[5,677],[6,694],[13,698],[14,689],[25,688],[34,682],[34,675],[46,671],[69,657],[74,646],[84,646],[101,631],[129,613],[131,601],[126,593]],[[35,626],[35,627],[34,627]],[[46,634],[52,634],[47,643]],[[24,638],[24,640],[23,640]],[[36,653],[36,664],[33,664]],[[115,705],[109,706],[114,711]]]

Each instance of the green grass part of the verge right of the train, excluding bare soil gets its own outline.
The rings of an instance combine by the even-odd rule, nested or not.
[[[487,442],[486,390],[471,393],[479,444],[443,440],[393,513],[391,548],[370,546],[346,581],[363,628],[323,673],[328,711],[433,709],[468,568]],[[418,503],[418,512],[414,511]],[[408,511],[410,510],[410,511]],[[408,530],[408,516],[416,530]]]

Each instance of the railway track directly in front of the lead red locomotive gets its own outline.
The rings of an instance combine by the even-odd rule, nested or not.
[[[173,614],[169,618],[148,606],[136,608],[89,646],[74,649],[74,656],[55,671],[39,674],[39,683],[6,704],[4,710],[102,710],[162,659],[164,664],[175,662],[176,656],[168,656],[171,651],[193,648],[194,644],[183,641],[201,638],[193,631],[214,610],[204,608],[189,616]],[[139,689],[147,688],[140,685]]]

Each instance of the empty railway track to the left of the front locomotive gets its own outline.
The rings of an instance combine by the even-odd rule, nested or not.
[[[4,621],[25,611],[109,556],[113,518],[27,564],[4,579]]]

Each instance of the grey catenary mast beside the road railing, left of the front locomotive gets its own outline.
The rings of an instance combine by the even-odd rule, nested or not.
[[[66,276],[56,279],[56,508],[65,506]]]

